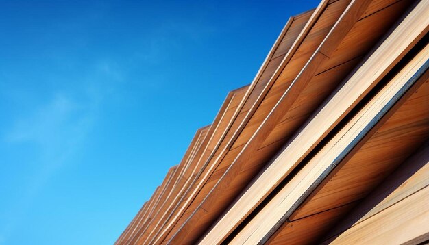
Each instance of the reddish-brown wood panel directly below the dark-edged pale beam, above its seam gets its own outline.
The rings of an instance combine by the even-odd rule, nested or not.
[[[428,89],[428,86],[422,86],[418,94],[413,95],[415,103],[421,103],[426,107],[417,110],[412,105],[406,105],[400,109],[395,120],[378,131],[373,140],[365,144],[350,160],[342,163],[344,166],[340,164],[339,168],[336,168],[315,192],[312,192],[291,216],[291,220],[363,198],[397,164],[413,152],[415,147],[428,136],[429,122],[425,116],[429,114],[429,101],[428,97],[424,96],[428,94]],[[416,121],[416,119],[419,120]],[[401,123],[406,126],[397,127]],[[390,139],[388,147],[380,144],[380,141],[385,138]],[[367,164],[363,165],[362,162]],[[367,172],[367,175],[362,175],[362,171]]]

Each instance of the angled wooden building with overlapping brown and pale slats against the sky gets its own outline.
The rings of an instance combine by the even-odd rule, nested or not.
[[[429,0],[322,0],[116,244],[429,242]]]

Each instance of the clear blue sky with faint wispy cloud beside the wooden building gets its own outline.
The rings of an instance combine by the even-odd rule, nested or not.
[[[0,244],[112,244],[317,3],[0,0]]]

